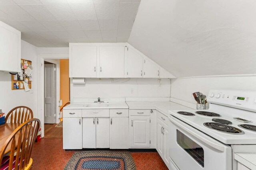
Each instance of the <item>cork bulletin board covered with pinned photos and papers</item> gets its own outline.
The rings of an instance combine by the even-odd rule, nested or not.
[[[29,91],[32,86],[32,61],[21,59],[20,68],[21,72],[12,75],[12,90]]]

